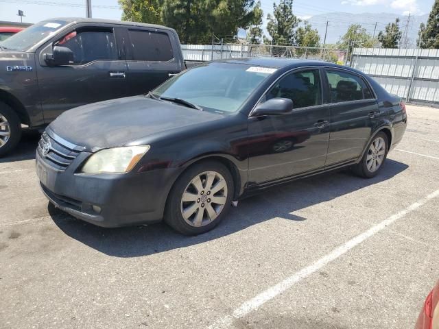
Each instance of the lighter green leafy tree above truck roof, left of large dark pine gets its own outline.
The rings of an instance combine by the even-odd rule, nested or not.
[[[161,8],[158,0],[118,0],[122,21],[160,24]]]

